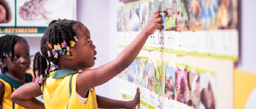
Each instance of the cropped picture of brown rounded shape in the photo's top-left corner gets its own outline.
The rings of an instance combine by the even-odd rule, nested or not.
[[[15,0],[0,0],[0,26],[15,25]]]

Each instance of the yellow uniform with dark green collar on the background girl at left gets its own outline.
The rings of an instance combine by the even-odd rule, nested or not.
[[[31,82],[32,75],[28,73],[26,73],[25,75],[26,75],[26,83]],[[6,74],[0,75],[0,81],[5,86],[5,92],[4,92],[3,101],[2,101],[3,109],[25,109],[11,101],[12,92],[14,92],[17,88],[22,86],[24,83],[16,81],[15,79],[7,76]]]

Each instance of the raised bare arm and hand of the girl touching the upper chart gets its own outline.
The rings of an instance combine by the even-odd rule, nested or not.
[[[122,72],[122,70],[125,70],[140,53],[148,36],[153,34],[156,29],[162,28],[163,18],[160,12],[154,13],[148,25],[115,60],[96,69],[85,70],[83,73],[80,73],[76,79],[76,91],[79,94],[83,93],[82,95],[85,95],[88,89],[104,84]]]

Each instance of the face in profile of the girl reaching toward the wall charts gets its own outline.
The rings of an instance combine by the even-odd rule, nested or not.
[[[96,60],[96,50],[93,41],[90,39],[90,31],[84,25],[81,25],[81,28],[76,29],[76,37],[78,41],[76,42],[75,47],[73,48],[74,59],[79,68],[90,68],[93,67]]]

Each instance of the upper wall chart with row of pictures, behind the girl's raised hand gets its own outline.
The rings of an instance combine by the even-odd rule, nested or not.
[[[163,29],[143,49],[177,55],[238,60],[238,0],[140,0],[118,7],[119,46],[145,28],[154,11],[163,11]]]

